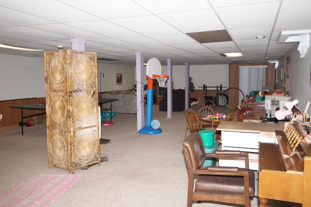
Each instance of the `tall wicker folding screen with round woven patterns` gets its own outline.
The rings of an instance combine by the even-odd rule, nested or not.
[[[44,53],[49,167],[100,164],[97,54]]]

